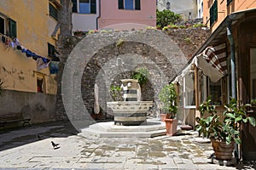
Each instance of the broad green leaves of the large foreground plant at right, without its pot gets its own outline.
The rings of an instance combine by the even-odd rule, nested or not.
[[[199,108],[202,116],[204,116],[206,112],[209,113],[210,116],[206,118],[195,118],[195,121],[198,122],[198,124],[195,125],[195,129],[199,132],[199,135],[203,134],[208,139],[225,141],[226,144],[230,144],[232,141],[236,142],[236,144],[241,144],[241,123],[249,122],[253,127],[256,125],[255,118],[253,116],[247,116],[247,107],[250,105],[237,105],[237,100],[231,98],[230,103],[224,105],[224,122],[220,122],[215,107],[210,104],[211,99],[208,98]]]

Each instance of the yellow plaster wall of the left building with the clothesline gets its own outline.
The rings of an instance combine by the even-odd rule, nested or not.
[[[49,0],[1,0],[0,12],[16,21],[20,44],[33,53],[48,58],[48,42],[57,21],[49,16]],[[56,94],[55,75],[49,75],[49,67],[37,71],[37,62],[20,50],[0,42],[0,78],[3,88],[25,92],[38,92],[37,77],[44,78],[44,93]]]

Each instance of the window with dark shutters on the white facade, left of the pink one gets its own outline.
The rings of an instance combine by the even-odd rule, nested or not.
[[[73,13],[96,14],[96,0],[72,0]]]

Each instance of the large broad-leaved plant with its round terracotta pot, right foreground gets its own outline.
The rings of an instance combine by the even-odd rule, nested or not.
[[[232,159],[232,152],[236,144],[241,144],[240,127],[242,122],[249,122],[255,127],[255,119],[253,116],[247,116],[247,106],[237,105],[236,99],[230,99],[230,104],[224,105],[223,113],[224,121],[219,121],[215,107],[211,105],[211,99],[200,105],[201,118],[196,117],[198,122],[195,129],[199,135],[203,134],[208,139],[211,139],[214,154],[219,160]],[[205,113],[210,116],[204,117]]]

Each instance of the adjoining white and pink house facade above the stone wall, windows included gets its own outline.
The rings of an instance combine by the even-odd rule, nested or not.
[[[73,0],[73,31],[156,26],[155,0]]]

